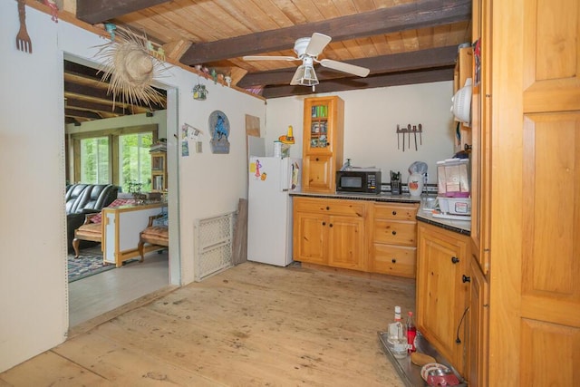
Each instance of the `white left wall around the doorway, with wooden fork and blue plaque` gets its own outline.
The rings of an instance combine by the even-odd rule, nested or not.
[[[0,372],[62,343],[68,330],[66,231],[64,216],[64,53],[95,62],[96,46],[106,41],[50,15],[26,7],[33,53],[17,51],[15,1],[0,2]],[[169,66],[161,82],[169,88],[168,157],[170,233],[179,233],[183,284],[194,278],[193,224],[234,211],[247,197],[245,115],[265,122],[262,100],[213,82],[208,100],[194,101],[198,76]],[[209,150],[208,116],[220,110],[231,125],[229,154]],[[206,133],[204,153],[179,156],[183,122]],[[179,171],[179,172],[178,172]],[[177,175],[179,174],[179,179]],[[175,235],[175,234],[172,234]],[[174,251],[174,250],[172,250]],[[170,265],[171,271],[175,266]]]

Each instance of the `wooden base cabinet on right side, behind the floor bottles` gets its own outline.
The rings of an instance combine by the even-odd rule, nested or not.
[[[417,328],[465,374],[469,237],[422,222],[418,237]]]

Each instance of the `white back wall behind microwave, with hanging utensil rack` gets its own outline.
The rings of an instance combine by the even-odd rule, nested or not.
[[[403,183],[409,176],[413,161],[427,163],[429,182],[437,182],[438,160],[454,154],[453,116],[449,111],[453,82],[420,83],[315,96],[338,95],[344,100],[344,159],[357,167],[375,166],[382,169],[382,181],[389,182],[389,171],[401,171]],[[302,157],[303,102],[302,97],[268,100],[266,111],[266,154],[273,153],[273,141],[293,125],[295,145],[291,157]],[[411,150],[397,150],[397,124],[422,125],[422,145],[417,135],[411,135]],[[409,139],[407,138],[407,141]]]

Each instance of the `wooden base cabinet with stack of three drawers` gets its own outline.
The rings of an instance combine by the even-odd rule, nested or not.
[[[417,204],[375,203],[372,208],[370,271],[414,278]]]

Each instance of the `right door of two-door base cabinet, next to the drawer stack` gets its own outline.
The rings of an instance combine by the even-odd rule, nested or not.
[[[364,219],[330,217],[328,227],[328,264],[356,270],[366,269]]]

